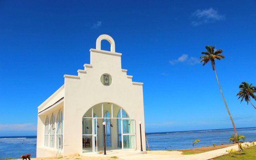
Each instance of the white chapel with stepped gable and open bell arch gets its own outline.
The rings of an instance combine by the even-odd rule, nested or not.
[[[101,50],[101,41],[110,51]],[[36,157],[97,154],[104,135],[109,150],[146,150],[143,83],[121,68],[121,53],[103,34],[90,49],[90,64],[78,76],[64,75],[64,85],[38,106]],[[105,122],[105,134],[102,123]]]

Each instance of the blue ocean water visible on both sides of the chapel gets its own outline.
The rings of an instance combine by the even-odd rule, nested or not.
[[[246,142],[256,140],[256,128],[238,128],[237,132],[246,136]],[[182,150],[212,146],[212,142],[216,145],[231,144],[228,139],[233,133],[233,129],[197,130],[147,133],[147,137],[151,150]],[[201,141],[193,147],[192,141],[196,139]],[[20,158],[24,154],[36,157],[36,136],[0,137],[0,159]]]

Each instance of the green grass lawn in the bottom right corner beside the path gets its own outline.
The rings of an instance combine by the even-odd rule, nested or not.
[[[214,158],[214,160],[256,160],[256,146],[244,149],[241,155],[236,151],[232,154],[232,157],[230,157],[229,154],[226,154],[224,156]]]

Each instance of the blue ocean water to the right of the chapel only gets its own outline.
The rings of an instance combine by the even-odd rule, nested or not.
[[[256,128],[237,128],[237,134],[242,134],[246,137],[245,142],[256,140]],[[151,150],[184,150],[190,148],[201,148],[202,146],[232,144],[229,138],[234,134],[234,129],[221,130],[197,130],[184,132],[160,132],[148,133],[148,143]],[[200,142],[195,147],[192,142],[200,139]],[[242,140],[241,140],[242,141]],[[148,148],[148,147],[147,147]]]

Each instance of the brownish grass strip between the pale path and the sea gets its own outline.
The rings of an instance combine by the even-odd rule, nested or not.
[[[218,150],[220,148],[226,148],[229,146],[234,146],[236,144],[225,144],[225,145],[219,145],[219,146],[210,146],[210,147],[201,147],[201,148],[194,148],[194,149],[188,149],[188,150],[178,150],[182,151],[182,154],[188,155],[188,154],[198,154],[198,153],[203,153],[203,152],[209,152],[212,150]]]

